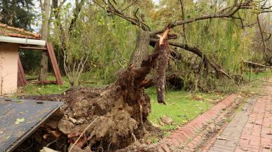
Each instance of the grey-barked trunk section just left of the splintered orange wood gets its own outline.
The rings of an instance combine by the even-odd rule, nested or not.
[[[135,67],[140,67],[144,57],[149,54],[149,32],[140,29],[137,34],[136,48],[130,57],[130,64],[134,64]]]

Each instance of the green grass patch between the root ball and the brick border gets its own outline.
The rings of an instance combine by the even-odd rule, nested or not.
[[[160,125],[161,117],[172,118],[173,123],[171,125],[161,127],[166,132],[175,130],[179,125],[193,120],[193,118],[210,109],[215,99],[223,97],[223,95],[216,95],[215,93],[191,93],[172,90],[165,92],[167,104],[165,106],[156,101],[156,90],[154,88],[148,89],[147,94],[151,98],[151,113],[149,115],[151,123]]]

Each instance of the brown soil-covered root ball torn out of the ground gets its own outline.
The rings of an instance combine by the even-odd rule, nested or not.
[[[132,94],[126,95],[124,92],[128,90],[122,90],[120,85],[114,84],[101,89],[74,88],[62,95],[28,98],[64,102],[60,110],[43,123],[39,129],[43,132],[38,132],[40,137],[54,131],[67,138],[66,143],[64,141],[67,146],[62,148],[51,144],[55,150],[67,151],[64,148],[74,144],[85,130],[83,137],[75,144],[77,148],[84,149],[88,146],[93,151],[97,151],[97,148],[115,151],[142,138],[146,132],[144,123],[149,123],[149,97],[143,88],[132,91]],[[88,126],[90,123],[92,124]],[[40,148],[45,145],[39,144]]]

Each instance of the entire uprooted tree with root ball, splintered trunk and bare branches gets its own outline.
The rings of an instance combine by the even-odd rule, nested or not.
[[[34,97],[64,102],[62,109],[44,123],[39,132],[36,132],[39,135],[35,135],[34,138],[40,146],[51,146],[60,151],[64,151],[68,146],[70,150],[72,149],[71,151],[88,147],[93,151],[115,151],[141,139],[151,127],[147,120],[151,110],[150,99],[144,92],[144,88],[156,85],[158,102],[165,104],[164,89],[165,79],[167,79],[165,72],[170,58],[178,56],[171,46],[197,55],[203,61],[203,67],[207,71],[209,67],[212,67],[217,75],[226,76],[234,81],[231,74],[213,62],[200,48],[170,41],[177,39],[176,34],[169,34],[170,29],[215,18],[238,20],[242,27],[245,27],[243,18],[237,15],[238,11],[259,8],[259,13],[266,13],[271,8],[265,5],[266,1],[235,1],[233,5],[226,6],[212,15],[177,20],[171,22],[166,28],[151,32],[149,26],[137,16],[137,11],[135,11],[135,17],[130,17],[118,10],[115,1],[94,2],[107,12],[140,27],[137,47],[128,68],[121,71],[116,83],[106,88],[74,88],[62,95]],[[148,55],[148,45],[154,47],[151,55]],[[156,76],[147,79],[151,69],[156,71]]]

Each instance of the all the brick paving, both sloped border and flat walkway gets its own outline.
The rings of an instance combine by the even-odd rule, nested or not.
[[[198,116],[190,123],[179,127],[157,145],[158,151],[210,151],[210,152],[272,152],[272,86],[266,88],[266,96],[252,98],[244,105],[245,111],[235,113],[231,123],[226,125],[219,137],[207,143],[206,133],[213,130],[213,121],[221,120],[236,95],[230,95],[209,111]]]

